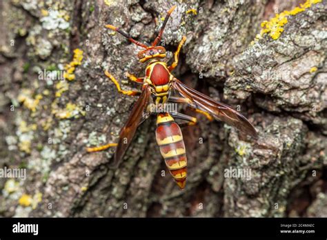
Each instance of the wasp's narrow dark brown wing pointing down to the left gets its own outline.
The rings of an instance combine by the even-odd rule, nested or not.
[[[137,99],[137,102],[132,108],[132,112],[130,112],[130,116],[125,123],[125,126],[121,128],[118,145],[115,152],[115,160],[114,163],[112,163],[113,166],[117,166],[121,159],[123,159],[123,155],[130,146],[130,142],[135,135],[139,123],[145,120],[144,110],[146,110],[146,107],[148,106],[150,94],[151,92],[149,86],[144,86],[139,99]]]

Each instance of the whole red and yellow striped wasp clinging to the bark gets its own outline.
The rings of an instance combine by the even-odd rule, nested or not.
[[[114,157],[114,165],[116,166],[121,159],[123,159],[123,156],[135,135],[137,127],[145,121],[150,114],[154,113],[151,112],[150,108],[148,108],[150,104],[158,106],[159,104],[164,103],[186,103],[197,112],[204,114],[208,119],[224,121],[230,126],[234,126],[241,132],[257,139],[255,128],[242,114],[237,112],[237,110],[234,110],[224,103],[219,103],[205,94],[186,86],[171,73],[172,70],[176,68],[179,61],[179,52],[186,41],[185,36],[182,37],[179,43],[172,64],[168,66],[166,62],[161,61],[161,59],[166,57],[166,49],[163,46],[157,46],[157,44],[161,40],[161,36],[170,14],[175,10],[175,8],[176,6],[172,6],[172,8],[168,10],[164,23],[161,26],[161,30],[151,46],[132,39],[132,37],[130,37],[126,32],[123,32],[115,26],[106,25],[106,28],[119,32],[119,34],[126,37],[132,43],[144,48],[137,54],[137,57],[141,63],[147,63],[145,77],[135,77],[133,74],[126,74],[128,79],[141,84],[141,91],[122,90],[115,77],[113,77],[108,71],[105,71],[106,76],[117,86],[118,92],[130,96],[139,96],[139,99],[132,108],[132,112],[130,112],[130,116],[125,123],[125,126],[121,129],[118,143],[109,143],[104,146],[87,148],[88,152],[96,152],[106,150],[112,146],[117,146]],[[179,97],[170,96],[172,91],[178,92]],[[193,125],[197,123],[197,118],[179,112],[164,111],[155,113],[157,114],[156,139],[161,156],[164,158],[166,166],[179,188],[184,189],[186,186],[187,174],[186,148],[183,135],[181,134],[181,128],[175,119],[181,119],[186,121],[187,125]]]

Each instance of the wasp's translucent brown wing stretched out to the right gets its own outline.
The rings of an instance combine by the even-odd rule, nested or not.
[[[177,90],[182,97],[188,99],[190,106],[204,110],[205,112],[212,114],[215,119],[224,121],[230,126],[233,126],[241,132],[249,134],[257,139],[257,131],[255,128],[248,119],[237,112],[237,110],[232,109],[224,103],[219,103],[205,94],[186,86],[178,79],[172,81],[172,87]]]

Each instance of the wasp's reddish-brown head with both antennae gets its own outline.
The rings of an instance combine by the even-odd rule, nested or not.
[[[139,41],[132,39],[132,37],[128,36],[128,34],[126,32],[121,31],[119,28],[116,28],[115,26],[106,25],[106,28],[110,28],[112,30],[115,30],[116,32],[119,32],[121,35],[123,35],[123,37],[126,37],[132,43],[135,43],[137,46],[145,48],[145,50],[141,50],[137,54],[137,57],[139,57],[139,61],[141,63],[144,63],[144,62],[148,61],[149,59],[164,58],[164,57],[166,57],[166,49],[162,46],[157,46],[157,43],[159,43],[162,33],[164,32],[164,28],[170,17],[170,14],[172,13],[173,10],[175,10],[175,8],[176,8],[176,5],[172,6],[172,8],[170,8],[170,10],[168,11],[166,18],[164,20],[164,23],[162,24],[161,30],[160,30],[158,36],[156,37],[155,41],[153,41],[151,46],[146,46],[146,44],[140,43]]]

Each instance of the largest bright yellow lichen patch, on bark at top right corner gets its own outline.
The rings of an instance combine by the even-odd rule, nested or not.
[[[307,8],[310,8],[313,4],[320,3],[321,1],[322,0],[307,0],[304,4],[300,4],[300,7],[296,7],[290,11],[286,10],[280,14],[277,13],[276,16],[269,21],[263,21],[261,23],[261,32],[260,34],[257,34],[256,39],[261,39],[264,34],[269,34],[269,36],[274,40],[278,39],[281,32],[284,31],[284,25],[288,23],[288,16],[294,16],[299,12],[303,12]]]

